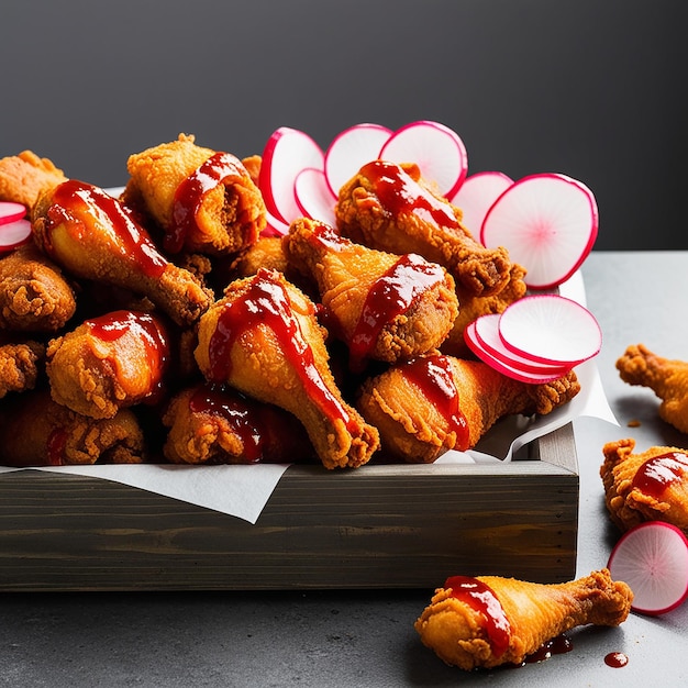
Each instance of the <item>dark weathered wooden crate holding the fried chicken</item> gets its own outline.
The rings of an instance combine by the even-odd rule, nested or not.
[[[574,577],[569,425],[500,465],[291,466],[255,525],[96,478],[0,476],[0,590],[434,588]]]

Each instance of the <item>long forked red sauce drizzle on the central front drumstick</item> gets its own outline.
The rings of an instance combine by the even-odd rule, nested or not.
[[[295,315],[289,296],[276,273],[260,268],[244,295],[222,309],[210,337],[208,376],[211,381],[225,382],[232,371],[230,352],[236,340],[259,324],[269,328],[284,356],[298,373],[311,399],[331,420],[341,419],[353,430],[353,419],[332,393],[315,366],[313,349],[306,341]]]

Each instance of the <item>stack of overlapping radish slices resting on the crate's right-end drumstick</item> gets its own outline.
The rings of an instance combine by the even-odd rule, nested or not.
[[[597,355],[600,326],[586,308],[557,295],[534,295],[503,313],[481,315],[464,331],[489,366],[523,382],[550,382]]]

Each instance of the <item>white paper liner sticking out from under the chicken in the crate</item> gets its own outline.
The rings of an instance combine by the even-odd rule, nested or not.
[[[582,278],[576,273],[559,293],[585,306]],[[469,452],[447,452],[436,463],[500,463],[511,460],[522,446],[580,417],[595,417],[619,424],[602,389],[595,359],[576,368],[580,392],[565,407],[546,417],[502,419]],[[0,466],[0,474],[15,470],[42,470],[113,480],[156,492],[206,509],[226,513],[255,523],[288,464],[242,466],[179,466],[174,464],[42,466],[14,468]],[[365,466],[357,468],[365,470]]]

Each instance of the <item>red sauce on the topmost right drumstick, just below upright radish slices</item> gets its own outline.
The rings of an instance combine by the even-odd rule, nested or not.
[[[373,160],[360,168],[360,174],[373,181],[376,196],[393,215],[417,213],[441,226],[458,228],[451,204],[435,198],[399,165]]]

